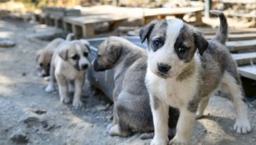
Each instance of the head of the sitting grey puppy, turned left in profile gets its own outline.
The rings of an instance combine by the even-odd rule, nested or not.
[[[104,71],[113,68],[119,60],[122,48],[119,38],[107,38],[99,45],[96,59],[92,62],[94,69],[96,71]]]

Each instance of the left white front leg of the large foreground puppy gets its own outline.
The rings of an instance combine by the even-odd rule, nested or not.
[[[150,96],[150,106],[154,120],[154,138],[151,145],[166,145],[168,142],[168,114],[169,107],[160,102],[156,96]]]

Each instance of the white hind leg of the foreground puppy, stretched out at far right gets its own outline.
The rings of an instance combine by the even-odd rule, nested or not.
[[[230,73],[224,73],[222,85],[225,90],[229,91],[231,96],[230,99],[236,108],[236,124],[234,125],[234,130],[237,133],[250,132],[252,128],[247,118],[246,98],[241,85],[239,84],[239,78],[236,80]]]

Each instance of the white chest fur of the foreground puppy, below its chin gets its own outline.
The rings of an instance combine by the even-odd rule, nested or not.
[[[186,106],[198,92],[198,70],[183,81],[173,78],[160,78],[149,68],[146,74],[146,85],[150,95],[159,98],[172,107]]]

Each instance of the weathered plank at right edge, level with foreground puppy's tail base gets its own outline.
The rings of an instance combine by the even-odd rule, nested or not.
[[[226,46],[228,49],[230,49],[230,51],[245,51],[247,49],[256,49],[256,39],[245,41],[230,41],[226,43]]]

